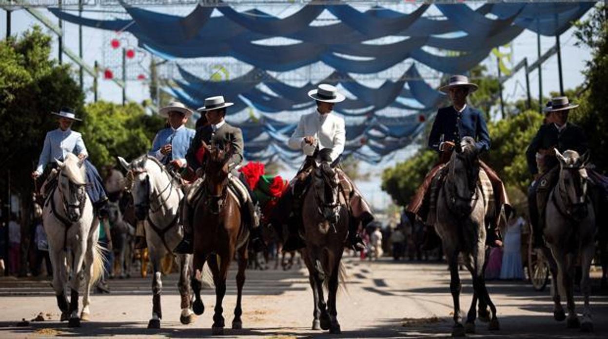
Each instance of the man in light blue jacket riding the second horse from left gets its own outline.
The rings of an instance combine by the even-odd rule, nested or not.
[[[158,159],[165,167],[185,169],[186,152],[194,138],[195,130],[185,127],[192,110],[178,101],[170,102],[159,110],[159,115],[167,118],[169,127],[159,130],[148,153]],[[137,223],[135,248],[147,247],[143,223]]]

